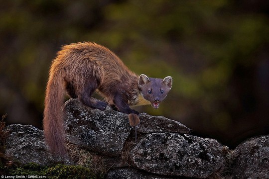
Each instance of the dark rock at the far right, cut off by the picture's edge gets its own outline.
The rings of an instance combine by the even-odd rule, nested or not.
[[[269,135],[243,142],[234,157],[233,179],[269,179]]]

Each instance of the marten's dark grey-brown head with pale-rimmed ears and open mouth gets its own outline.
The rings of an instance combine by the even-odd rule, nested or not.
[[[160,102],[167,96],[172,88],[172,77],[164,79],[148,78],[142,74],[139,76],[138,88],[144,99],[150,101],[155,109],[159,107]]]

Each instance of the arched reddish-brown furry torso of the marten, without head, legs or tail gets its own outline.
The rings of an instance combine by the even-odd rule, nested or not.
[[[137,86],[138,76],[130,71],[114,52],[96,43],[65,45],[58,52],[54,64],[54,67],[58,66],[68,72],[66,79],[69,82],[77,82],[75,88],[78,90],[82,88],[79,82],[88,76],[87,74],[98,75],[96,79],[102,79],[99,91],[104,97],[111,96],[113,86],[123,84],[125,91],[132,91]],[[61,70],[55,70],[56,73],[57,71]]]

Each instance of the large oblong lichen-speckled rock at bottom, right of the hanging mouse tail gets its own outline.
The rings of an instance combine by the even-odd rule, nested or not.
[[[179,133],[142,137],[130,154],[137,169],[167,176],[206,178],[224,167],[222,146],[214,139]]]

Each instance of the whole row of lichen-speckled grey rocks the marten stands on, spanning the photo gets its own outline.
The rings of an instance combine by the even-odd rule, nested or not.
[[[91,109],[77,99],[68,100],[63,110],[68,145],[83,150],[83,158],[91,153],[102,159],[110,169],[107,179],[269,178],[269,136],[250,139],[227,153],[216,140],[193,136],[177,121],[141,113],[135,143],[127,114],[110,107]],[[43,166],[61,160],[49,153],[42,130],[13,124],[5,132],[6,159]],[[64,162],[78,164],[74,155],[82,152],[68,152],[70,159]],[[232,172],[222,175],[227,164]]]

